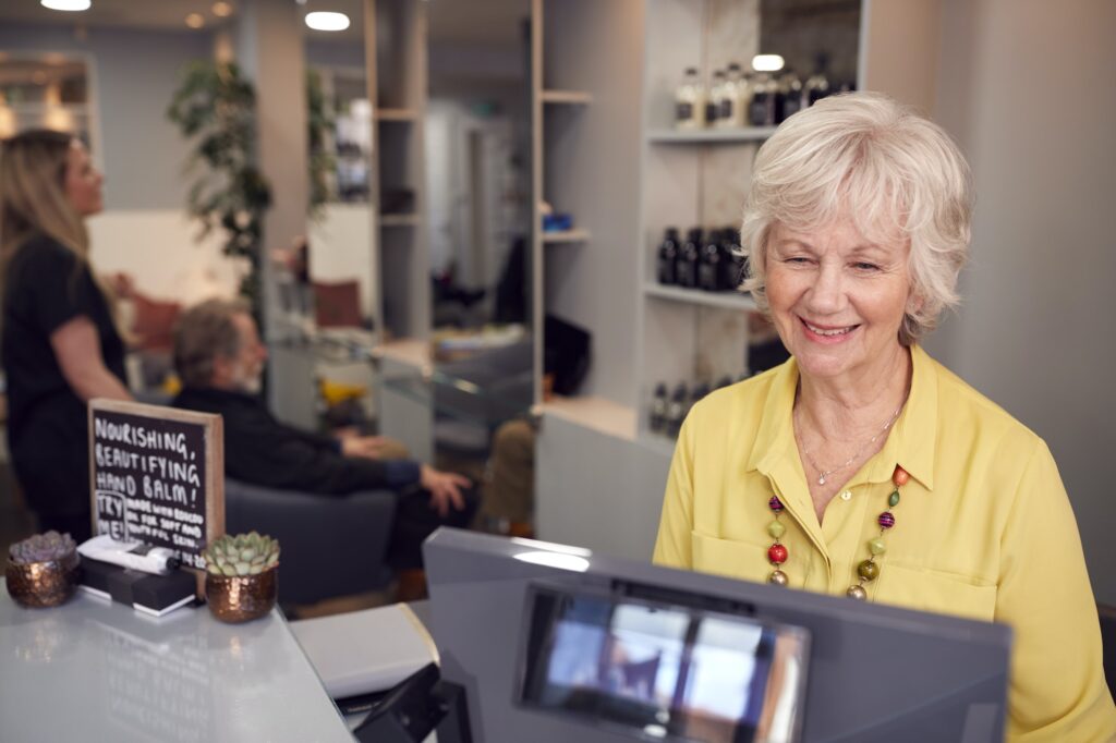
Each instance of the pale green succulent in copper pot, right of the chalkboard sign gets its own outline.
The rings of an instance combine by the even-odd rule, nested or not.
[[[218,537],[205,548],[205,599],[221,621],[262,617],[279,595],[279,542],[254,531]]]

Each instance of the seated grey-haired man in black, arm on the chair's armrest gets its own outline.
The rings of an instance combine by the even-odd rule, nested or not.
[[[184,311],[174,332],[183,388],[173,405],[224,418],[225,474],[241,482],[323,495],[400,492],[388,563],[413,580],[406,573],[422,566],[422,541],[439,525],[472,520],[471,483],[419,462],[381,460],[376,437],[330,438],[280,423],[259,397],[267,357],[243,303],[213,299]]]

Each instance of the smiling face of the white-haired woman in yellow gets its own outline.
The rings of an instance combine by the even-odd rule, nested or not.
[[[912,302],[908,251],[897,234],[873,242],[849,220],[804,232],[771,229],[767,297],[804,375],[853,383],[902,349],[899,326]]]

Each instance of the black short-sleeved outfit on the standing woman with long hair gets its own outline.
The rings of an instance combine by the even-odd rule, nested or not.
[[[85,403],[50,345],[55,330],[89,318],[105,366],[123,383],[124,342],[89,266],[46,235],[25,243],[3,286],[3,369],[8,444],[31,506],[40,514],[88,512],[89,444]]]

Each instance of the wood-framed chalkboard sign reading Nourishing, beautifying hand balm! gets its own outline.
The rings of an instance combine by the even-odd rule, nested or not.
[[[89,490],[94,532],[201,553],[224,533],[224,444],[220,415],[94,399],[89,403]]]

